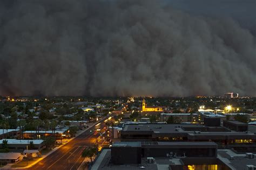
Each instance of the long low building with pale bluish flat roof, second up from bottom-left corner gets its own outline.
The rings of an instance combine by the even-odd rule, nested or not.
[[[30,142],[33,142],[34,148],[36,150],[41,151],[44,148],[44,141],[43,140],[18,140],[18,139],[2,139],[0,140],[0,144],[3,143],[3,140],[8,141],[8,148],[10,150],[25,150],[26,147],[30,144]],[[2,147],[2,145],[0,145]]]

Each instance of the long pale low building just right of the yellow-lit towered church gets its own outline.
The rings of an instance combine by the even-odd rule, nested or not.
[[[198,114],[160,114],[160,122],[166,122],[169,117],[172,116],[174,119],[179,119],[180,122],[198,122],[199,116]]]

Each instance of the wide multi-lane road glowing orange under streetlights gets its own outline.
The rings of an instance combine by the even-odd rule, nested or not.
[[[98,127],[93,126],[29,169],[77,169],[84,160],[81,157],[84,148],[95,145],[97,141],[98,145],[103,143],[103,140],[97,139],[100,134],[96,131],[103,128],[104,122]]]

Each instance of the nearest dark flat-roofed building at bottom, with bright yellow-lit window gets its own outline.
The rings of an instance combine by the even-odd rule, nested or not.
[[[217,155],[213,142],[114,142],[111,149],[102,150],[91,169],[233,169]]]

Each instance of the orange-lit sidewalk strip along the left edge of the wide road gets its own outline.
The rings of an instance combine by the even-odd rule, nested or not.
[[[106,117],[108,117],[108,116],[106,116]],[[76,137],[78,137],[80,134],[84,133],[85,131],[89,130],[90,128],[92,128],[93,126],[95,126],[96,124],[98,124],[99,122],[102,122],[103,119],[105,119],[106,117],[100,119],[99,121],[97,121],[97,122],[95,122],[95,123],[90,123],[90,124],[88,124],[89,127],[86,128],[86,129],[84,129],[84,130],[79,130],[79,131],[76,133]],[[66,141],[65,144],[53,148],[53,150],[51,150],[50,152],[48,152],[48,153],[45,154],[45,155],[42,155],[41,158],[39,158],[38,160],[36,160],[35,162],[33,162],[32,164],[30,164],[30,165],[28,165],[28,166],[26,166],[26,167],[17,167],[17,168],[14,168],[14,167],[12,167],[12,166],[15,164],[15,163],[14,163],[14,164],[7,164],[7,165],[5,165],[4,167],[1,167],[0,169],[26,169],[26,168],[30,168],[30,167],[34,166],[35,164],[37,164],[39,161],[41,161],[41,160],[43,160],[44,158],[48,157],[48,155],[50,155],[51,153],[57,151],[58,148],[60,148],[60,147],[62,147],[62,146],[64,146],[64,145],[66,145],[66,144],[68,144],[71,140],[75,139],[76,137],[73,137],[73,138],[71,138],[71,139],[67,139],[68,141]],[[65,139],[65,140],[66,140],[66,139]]]

